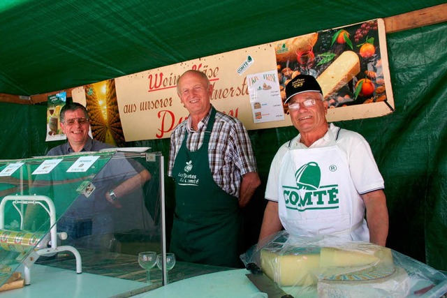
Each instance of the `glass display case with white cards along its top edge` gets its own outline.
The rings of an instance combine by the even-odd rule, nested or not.
[[[42,266],[129,281],[109,296],[163,285],[138,264],[166,253],[163,156],[144,150],[0,161],[0,285]]]

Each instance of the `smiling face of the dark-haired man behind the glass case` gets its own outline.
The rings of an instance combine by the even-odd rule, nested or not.
[[[74,118],[87,118],[87,116],[81,109],[76,109],[74,111],[66,110],[64,114],[64,122],[61,122],[61,128],[67,136],[71,147],[76,150],[75,148],[78,147],[82,149],[89,139],[90,123],[87,121],[85,124],[80,124],[79,121],[75,121],[72,126],[69,126],[67,121]]]

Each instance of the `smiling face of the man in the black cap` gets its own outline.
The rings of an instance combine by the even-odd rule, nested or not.
[[[303,104],[306,100],[314,99],[315,105],[305,107]],[[293,126],[302,134],[320,133],[326,131],[328,122],[326,121],[326,113],[328,112],[328,103],[321,100],[321,94],[318,92],[304,92],[293,96],[288,104],[293,105],[299,103],[298,109],[289,110]]]

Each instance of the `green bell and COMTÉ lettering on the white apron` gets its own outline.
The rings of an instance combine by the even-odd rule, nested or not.
[[[293,186],[283,185],[284,200],[287,209],[297,211],[338,209],[338,184],[320,186],[321,169],[318,163],[302,165],[295,172]]]

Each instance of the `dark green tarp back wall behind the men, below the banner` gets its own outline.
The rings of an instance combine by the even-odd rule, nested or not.
[[[395,112],[336,123],[362,134],[372,147],[386,183],[387,246],[441,270],[447,270],[446,33],[447,24],[441,23],[388,34]],[[45,115],[46,103],[0,103],[0,157],[41,156],[60,144],[45,142]],[[249,131],[263,184],[244,210],[247,248],[257,241],[270,162],[295,134],[292,126]],[[152,147],[168,156],[169,140],[128,145]],[[166,177],[168,211],[174,204],[172,185]]]

